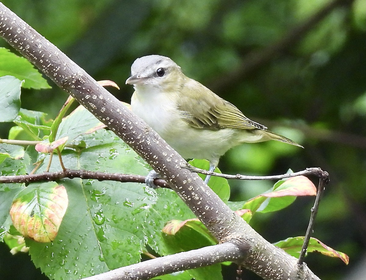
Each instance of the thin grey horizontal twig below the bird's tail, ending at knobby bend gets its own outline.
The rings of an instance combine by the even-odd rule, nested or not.
[[[212,176],[217,176],[217,177],[223,177],[226,179],[279,180],[279,179],[290,178],[290,177],[295,177],[295,176],[300,176],[300,175],[303,175],[303,176],[314,175],[319,178],[322,178],[322,180],[324,180],[325,184],[328,184],[328,182],[329,182],[328,172],[323,171],[318,167],[311,167],[311,168],[306,168],[305,170],[302,170],[299,172],[286,173],[286,174],[273,175],[273,176],[249,176],[249,175],[241,175],[241,174],[236,174],[236,175],[222,174],[222,173],[211,172],[208,170],[200,169],[200,168],[194,167],[188,163],[187,163],[187,165],[182,166],[182,168],[188,169],[191,172],[201,173],[201,174],[205,174],[205,175],[212,175]]]

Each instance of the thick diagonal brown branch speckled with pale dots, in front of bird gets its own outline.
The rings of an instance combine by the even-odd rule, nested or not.
[[[220,243],[231,242],[246,252],[245,259],[240,262],[243,266],[263,279],[298,279],[299,275],[306,275],[306,279],[318,279],[306,266],[300,267],[303,268],[301,270],[296,258],[255,232],[203,184],[197,174],[182,168],[186,161],[145,122],[2,3],[0,36],[138,152]],[[146,269],[152,270],[153,267]],[[158,269],[164,271],[164,268]],[[140,279],[150,277],[152,275]]]

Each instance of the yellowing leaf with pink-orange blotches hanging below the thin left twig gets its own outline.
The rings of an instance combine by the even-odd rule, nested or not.
[[[51,242],[57,235],[67,205],[63,185],[55,182],[29,184],[14,199],[10,216],[23,236],[37,242]]]

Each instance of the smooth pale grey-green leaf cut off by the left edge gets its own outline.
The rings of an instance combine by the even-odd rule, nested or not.
[[[0,122],[11,122],[18,115],[21,85],[22,81],[13,76],[0,77]]]

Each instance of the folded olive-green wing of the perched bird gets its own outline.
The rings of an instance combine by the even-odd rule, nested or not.
[[[183,92],[186,94],[179,97],[178,110],[184,121],[194,128],[267,129],[197,81],[186,82]]]

